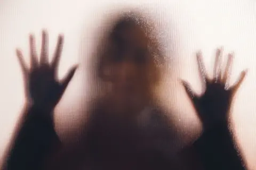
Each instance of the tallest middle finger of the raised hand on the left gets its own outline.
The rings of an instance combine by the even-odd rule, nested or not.
[[[46,30],[42,32],[42,48],[40,64],[48,64],[48,33]]]

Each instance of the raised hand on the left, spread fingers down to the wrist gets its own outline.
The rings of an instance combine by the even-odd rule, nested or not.
[[[71,67],[66,77],[60,82],[57,79],[58,65],[63,45],[63,36],[58,37],[57,48],[53,60],[49,63],[48,59],[48,35],[46,31],[42,33],[41,56],[36,54],[35,38],[29,36],[30,41],[30,68],[25,64],[22,53],[17,49],[17,56],[21,65],[24,82],[25,95],[30,103],[49,109],[50,111],[58,104],[61,96],[65,92],[68,83],[73,78],[77,65]]]

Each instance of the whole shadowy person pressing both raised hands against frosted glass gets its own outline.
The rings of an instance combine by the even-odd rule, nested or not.
[[[159,80],[161,72],[148,51],[148,37],[133,18],[121,18],[115,24],[109,37],[108,52],[100,63],[99,75],[103,81],[110,82],[113,89],[99,101],[80,143],[56,155],[54,148],[60,148],[60,141],[54,131],[53,109],[77,66],[71,69],[66,79],[58,82],[56,72],[62,37],[50,64],[47,61],[47,33],[43,32],[40,62],[36,60],[34,38],[30,41],[29,70],[21,53],[18,51],[17,54],[25,83],[28,83],[27,98],[32,103],[25,111],[21,129],[11,146],[7,169],[41,169],[45,165],[47,169],[186,168],[174,162],[171,153],[173,132],[161,109],[155,106],[151,93],[151,86]],[[214,80],[207,77],[202,56],[197,55],[199,71],[206,84],[203,96],[195,96],[188,83],[182,81],[204,126],[204,133],[194,143],[195,152],[189,153],[192,155],[189,158],[197,154],[203,169],[243,169],[228,130],[228,111],[246,72],[242,72],[233,87],[226,89],[231,55],[221,79],[221,73],[217,72],[220,54],[221,50],[218,50]],[[181,152],[181,158],[184,155],[186,157],[186,150]],[[191,165],[186,160],[182,164]],[[199,166],[187,168],[199,169]]]

